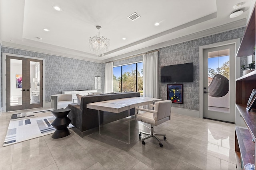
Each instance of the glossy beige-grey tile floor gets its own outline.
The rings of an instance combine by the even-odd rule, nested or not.
[[[13,113],[0,112],[2,143]],[[127,119],[122,119],[104,129],[117,132],[116,137],[123,140],[127,125]],[[46,135],[7,147],[0,145],[0,169],[235,170],[234,127],[234,124],[172,113],[170,121],[155,128],[158,133],[166,133],[167,140],[161,148],[153,138],[145,140],[143,146],[139,129],[148,128],[131,119],[130,145],[98,135],[96,131],[81,138],[71,130],[71,135],[61,139]]]

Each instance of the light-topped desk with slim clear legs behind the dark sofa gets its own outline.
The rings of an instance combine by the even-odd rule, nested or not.
[[[148,98],[148,97],[134,97],[134,98],[122,98],[115,100],[106,100],[102,102],[95,102],[87,104],[88,109],[98,110],[99,116],[99,134],[100,134],[100,110],[109,111],[113,113],[120,113],[128,110],[128,144],[130,144],[130,109],[134,107],[144,106],[152,104],[153,102],[160,101],[162,99]]]

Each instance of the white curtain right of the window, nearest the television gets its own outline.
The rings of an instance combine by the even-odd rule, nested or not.
[[[143,55],[143,96],[158,98],[158,51]]]

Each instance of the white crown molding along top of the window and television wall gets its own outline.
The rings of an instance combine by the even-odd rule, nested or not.
[[[221,26],[218,26],[218,27],[214,27],[214,28],[211,28],[211,29],[200,31],[200,32],[193,33],[193,34],[190,34],[190,35],[186,35],[186,36],[183,36],[183,37],[179,37],[177,39],[172,39],[170,41],[165,41],[165,42],[162,42],[162,43],[158,43],[156,45],[152,45],[152,46],[149,46],[149,47],[146,47],[146,48],[143,48],[143,49],[139,49],[139,50],[136,50],[136,51],[125,53],[125,54],[122,54],[122,55],[118,55],[118,56],[112,57],[110,59],[102,60],[102,62],[106,63],[106,62],[122,59],[122,58],[125,58],[125,57],[130,57],[130,56],[133,56],[133,55],[139,55],[139,54],[142,54],[142,53],[146,53],[148,51],[160,49],[160,48],[163,48],[163,47],[168,47],[170,45],[175,45],[175,44],[178,44],[178,43],[191,41],[193,39],[198,39],[198,38],[206,37],[206,36],[209,36],[209,35],[222,33],[224,31],[230,31],[230,30],[233,30],[233,29],[245,27],[245,26],[246,26],[246,19],[238,20],[238,21],[235,21],[235,22],[232,22],[232,23],[228,23],[228,24],[225,24],[225,25],[221,25]]]

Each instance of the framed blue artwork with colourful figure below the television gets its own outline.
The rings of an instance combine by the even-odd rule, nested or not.
[[[167,100],[183,104],[183,84],[167,84]]]

